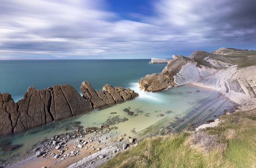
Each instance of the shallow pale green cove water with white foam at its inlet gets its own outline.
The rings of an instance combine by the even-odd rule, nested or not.
[[[141,133],[151,133],[149,129],[147,130],[150,125],[160,123],[160,125],[158,124],[159,128],[159,126],[164,126],[161,124],[175,123],[177,119],[186,117],[190,111],[202,105],[203,100],[208,99],[211,101],[219,96],[218,92],[195,86],[181,86],[156,93],[144,92],[138,88],[137,82],[131,84],[131,89],[139,93],[139,97],[135,100],[113,105],[100,111],[95,110],[79,117],[53,122],[43,127],[2,139],[2,143],[10,141],[11,144],[20,144],[22,147],[12,152],[1,151],[0,159],[4,159],[20,150],[26,150],[45,138],[65,133],[69,130],[68,127],[74,127],[74,122],[79,123],[83,127],[99,127],[111,117],[119,116],[121,119],[126,117],[127,121],[114,125],[118,127],[118,129],[114,130],[117,132],[115,135],[126,134],[127,136],[140,138],[139,135]],[[200,92],[196,90],[200,90]],[[127,112],[123,111],[125,108],[129,108],[134,114],[132,116],[128,115]],[[131,131],[132,129],[134,131]]]

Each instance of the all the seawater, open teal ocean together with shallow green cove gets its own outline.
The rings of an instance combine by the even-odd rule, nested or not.
[[[149,64],[149,59],[132,60],[25,60],[0,61],[0,93],[10,93],[15,102],[23,98],[29,86],[43,89],[55,84],[70,84],[80,94],[80,85],[87,80],[95,90],[104,84],[131,88],[139,97],[106,109],[56,121],[42,127],[11,135],[0,140],[19,144],[20,148],[4,152],[0,148],[0,159],[6,159],[22,150],[27,150],[45,138],[65,133],[67,123],[80,121],[83,127],[99,127],[107,119],[118,116],[128,121],[115,124],[113,136],[126,134],[141,139],[161,135],[164,129],[181,131],[188,123],[199,125],[214,119],[232,102],[220,97],[219,92],[192,85],[184,85],[161,92],[145,92],[139,89],[138,81],[147,74],[160,73],[166,64]],[[137,115],[127,115],[130,108]],[[116,114],[111,114],[116,112]],[[163,114],[163,116],[160,115]],[[132,131],[131,130],[135,130]]]

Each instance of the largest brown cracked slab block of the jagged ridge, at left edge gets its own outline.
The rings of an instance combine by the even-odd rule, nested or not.
[[[69,84],[41,90],[29,87],[17,103],[10,94],[3,93],[0,105],[0,137],[92,110],[91,103]]]

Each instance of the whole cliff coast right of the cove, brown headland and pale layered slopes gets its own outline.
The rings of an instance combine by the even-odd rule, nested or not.
[[[256,63],[255,51],[221,48],[213,53],[194,51],[188,58],[173,57],[174,61],[160,74],[141,78],[140,88],[156,92],[191,83],[217,90],[238,104],[256,108],[256,65],[252,64]],[[238,69],[234,64],[248,67]]]

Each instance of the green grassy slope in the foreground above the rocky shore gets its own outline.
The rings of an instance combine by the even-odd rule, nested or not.
[[[190,132],[144,139],[137,147],[118,153],[103,168],[204,168],[256,166],[256,110],[223,115],[217,127],[205,134],[217,135],[219,146],[205,153],[191,143]]]

